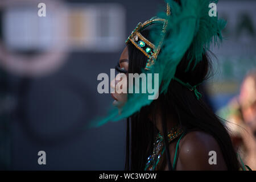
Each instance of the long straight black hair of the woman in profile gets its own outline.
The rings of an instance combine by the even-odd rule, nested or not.
[[[144,30],[141,34],[148,38],[149,31]],[[132,43],[127,44],[129,51],[129,73],[141,73],[142,68],[146,66],[147,57]],[[183,56],[177,66],[175,77],[191,85],[197,85],[209,77],[212,70],[210,57],[207,52],[203,59],[194,69],[185,71],[188,65],[187,53]],[[236,152],[234,151],[232,141],[221,118],[218,118],[200,99],[197,100],[195,94],[185,88],[179,82],[172,80],[166,94],[160,94],[157,100],[154,100],[149,106],[144,106],[138,112],[127,118],[127,137],[126,137],[126,170],[144,170],[147,156],[151,154],[154,139],[158,130],[155,127],[156,114],[161,115],[163,126],[164,141],[166,144],[166,155],[159,167],[164,169],[166,163],[171,167],[170,152],[168,151],[167,141],[167,117],[175,118],[183,131],[199,130],[212,135],[219,144],[225,159],[228,170],[237,170],[239,163]],[[148,115],[153,117],[148,117]]]

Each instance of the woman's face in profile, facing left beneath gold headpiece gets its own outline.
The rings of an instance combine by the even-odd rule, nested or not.
[[[121,53],[119,63],[115,68],[119,73],[115,76],[115,79],[110,82],[110,87],[115,91],[112,93],[114,98],[113,105],[120,109],[127,101],[127,76],[129,68],[129,52],[127,46]],[[126,90],[126,92],[122,92]]]

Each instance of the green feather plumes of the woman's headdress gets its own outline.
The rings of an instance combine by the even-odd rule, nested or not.
[[[203,53],[208,51],[212,44],[215,46],[221,42],[221,31],[226,24],[224,20],[218,19],[218,16],[209,16],[209,4],[217,4],[217,0],[181,0],[181,6],[172,0],[166,0],[166,2],[170,5],[171,14],[162,12],[158,15],[159,18],[167,21],[163,42],[159,40],[159,30],[154,31],[152,29],[150,32],[151,42],[157,46],[161,44],[161,52],[154,60],[154,66],[149,70],[142,69],[143,73],[159,74],[161,90],[156,94],[167,92],[171,80],[174,79],[176,67],[185,52],[188,51],[189,64],[187,69],[193,69],[201,61]],[[146,85],[146,88],[148,86],[152,85]],[[153,100],[148,100],[150,95],[150,93],[129,93],[121,113],[118,113],[117,108],[113,109],[108,117],[97,119],[91,122],[90,126],[97,127],[108,121],[118,121],[130,117],[141,110],[143,106],[151,104]]]

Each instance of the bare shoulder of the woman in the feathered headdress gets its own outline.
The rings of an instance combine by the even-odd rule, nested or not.
[[[225,170],[221,148],[212,135],[192,131],[180,140],[179,160],[183,170]]]

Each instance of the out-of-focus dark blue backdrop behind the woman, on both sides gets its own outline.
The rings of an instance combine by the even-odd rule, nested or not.
[[[39,3],[46,5],[46,16],[39,15]],[[85,125],[112,105],[109,94],[97,92],[98,74],[110,75],[130,32],[163,5],[159,0],[1,0],[0,169],[124,168],[125,121],[90,130]],[[255,8],[253,0],[217,5],[228,24],[224,43],[212,49],[218,60],[205,94],[223,117],[246,74],[256,68]],[[46,165],[38,164],[39,151],[46,151]]]

